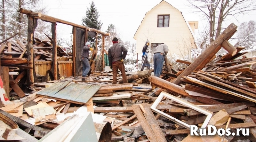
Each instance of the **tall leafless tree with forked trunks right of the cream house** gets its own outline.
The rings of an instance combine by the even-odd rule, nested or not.
[[[255,10],[255,0],[187,0],[189,6],[195,8],[195,12],[203,14],[209,23],[210,43],[220,33],[223,21],[233,16],[236,18],[241,14]]]

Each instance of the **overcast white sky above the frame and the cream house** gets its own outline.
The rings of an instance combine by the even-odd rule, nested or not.
[[[133,39],[141,20],[151,8],[159,4],[162,0],[94,0],[96,8],[100,14],[99,19],[103,23],[101,31],[106,31],[109,24],[114,24],[121,32],[123,41],[136,43]],[[47,15],[67,20],[76,24],[82,24],[82,17],[86,16],[87,7],[92,0],[43,0],[44,6],[47,6]],[[187,21],[200,21],[200,16],[191,12],[191,8],[186,6],[186,0],[166,0],[172,6],[180,10]],[[244,15],[239,18],[239,22],[256,20],[256,12],[250,12],[250,15]],[[229,25],[234,22],[237,26],[240,23],[236,20],[227,21]],[[72,27],[57,23],[58,37],[70,39]]]

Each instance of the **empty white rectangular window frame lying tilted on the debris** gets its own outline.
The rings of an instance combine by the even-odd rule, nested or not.
[[[212,114],[213,114],[212,112],[210,112],[210,111],[208,111],[208,110],[206,110],[206,109],[204,109],[202,107],[199,107],[199,106],[196,106],[194,104],[191,104],[191,103],[189,103],[187,101],[184,101],[183,99],[177,98],[177,97],[175,97],[175,96],[173,96],[171,94],[168,94],[166,92],[161,92],[160,95],[157,97],[156,101],[153,103],[153,105],[150,108],[154,112],[156,112],[157,114],[160,114],[160,115],[164,116],[165,118],[167,118],[167,119],[169,119],[169,120],[171,120],[171,121],[173,121],[173,122],[175,122],[177,124],[180,124],[181,126],[187,128],[189,130],[190,130],[190,125],[186,124],[185,122],[180,121],[179,119],[176,119],[176,118],[172,117],[171,115],[168,115],[168,114],[166,114],[166,113],[156,109],[156,106],[160,103],[160,101],[161,101],[161,99],[163,99],[163,97],[169,98],[169,99],[171,99],[173,101],[176,101],[176,102],[178,102],[178,103],[180,103],[180,104],[182,104],[184,106],[188,106],[189,108],[192,108],[192,109],[194,109],[194,110],[196,110],[196,111],[198,111],[198,112],[200,112],[202,114],[207,115],[207,117],[204,120],[204,123],[203,123],[201,128],[206,128],[206,126],[208,125],[210,119],[212,118]]]

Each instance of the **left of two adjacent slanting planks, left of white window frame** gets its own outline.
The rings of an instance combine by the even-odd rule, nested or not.
[[[153,130],[150,128],[147,120],[145,119],[144,115],[140,111],[140,106],[139,105],[133,105],[132,110],[135,113],[138,120],[140,121],[140,124],[141,124],[143,130],[145,131],[145,133],[146,133],[148,139],[150,140],[150,142],[157,142],[157,138],[156,138]]]

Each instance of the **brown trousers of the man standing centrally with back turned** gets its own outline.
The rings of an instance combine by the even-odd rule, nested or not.
[[[112,84],[116,84],[117,83],[116,77],[117,77],[118,69],[122,73],[123,83],[128,83],[127,77],[126,77],[126,74],[125,74],[125,67],[124,67],[123,62],[116,61],[114,64],[112,64],[112,69],[113,69],[113,83]]]

